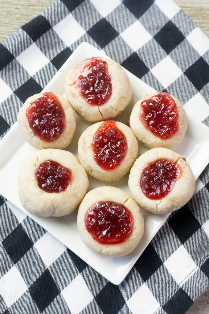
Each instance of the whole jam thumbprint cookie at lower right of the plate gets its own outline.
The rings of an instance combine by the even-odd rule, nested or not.
[[[166,148],[153,148],[135,161],[128,186],[141,207],[155,214],[165,214],[190,200],[195,178],[180,154]]]

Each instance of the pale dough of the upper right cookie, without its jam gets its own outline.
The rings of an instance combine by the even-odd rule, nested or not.
[[[176,107],[178,110],[179,130],[171,138],[161,139],[155,136],[149,129],[144,127],[144,125],[142,124],[139,118],[140,112],[141,112],[141,103],[144,100],[150,99],[153,96],[158,95],[159,93],[160,92],[156,92],[154,94],[147,95],[146,97],[137,101],[137,103],[133,106],[133,109],[131,111],[130,126],[136,138],[145,146],[149,148],[155,148],[155,147],[171,148],[181,142],[187,129],[187,117],[186,117],[184,107],[182,106],[182,104],[176,97],[174,97],[173,95],[170,95],[170,97],[173,98],[173,100],[175,101]]]

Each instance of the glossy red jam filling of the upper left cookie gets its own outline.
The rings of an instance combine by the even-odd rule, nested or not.
[[[33,133],[45,142],[58,139],[65,128],[65,112],[53,93],[45,93],[32,102],[26,117]]]

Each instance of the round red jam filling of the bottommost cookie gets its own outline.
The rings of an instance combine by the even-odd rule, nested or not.
[[[126,241],[133,228],[133,216],[124,205],[114,202],[97,202],[85,215],[85,225],[94,240],[102,244]]]

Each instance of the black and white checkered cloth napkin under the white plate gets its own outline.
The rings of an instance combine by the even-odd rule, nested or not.
[[[57,0],[0,46],[2,137],[83,41],[209,126],[209,40],[174,2]],[[209,284],[209,167],[119,286],[3,198],[0,208],[1,313],[181,314]]]

